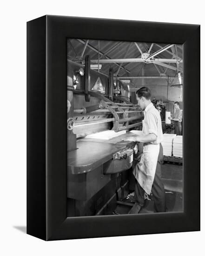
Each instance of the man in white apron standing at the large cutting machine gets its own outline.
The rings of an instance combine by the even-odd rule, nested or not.
[[[140,88],[136,92],[136,96],[138,105],[144,110],[143,135],[126,139],[144,142],[141,158],[133,167],[133,175],[135,176],[134,201],[143,207],[145,199],[149,199],[152,195],[156,212],[165,212],[165,189],[161,181],[161,162],[163,159],[161,118],[159,111],[151,102],[149,88]]]

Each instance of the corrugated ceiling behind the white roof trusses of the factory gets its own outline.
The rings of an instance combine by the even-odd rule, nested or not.
[[[141,58],[141,53],[134,42],[119,42],[119,41],[106,41],[106,40],[88,40],[86,49],[84,51],[83,57],[81,58],[83,49],[85,47],[87,40],[78,39],[68,39],[67,41],[67,58],[78,63],[85,61],[85,56],[90,55],[92,60],[99,59],[131,59],[131,58]],[[151,43],[141,43],[137,42],[142,53],[147,53],[151,47]],[[165,47],[167,44],[153,44],[150,54],[159,51],[161,48]],[[98,52],[99,51],[99,52]],[[156,59],[182,59],[183,60],[183,47],[182,45],[173,45],[162,53],[154,56]],[[101,63],[102,68],[101,73],[109,74],[109,69],[112,67],[114,74],[118,73],[118,76],[176,76],[169,80],[170,84],[179,83],[178,71],[183,71],[183,64],[179,63],[177,68],[176,63],[164,63],[169,65],[171,68],[160,66],[159,64],[144,63],[144,62],[130,62],[130,63]],[[163,64],[163,63],[162,63]],[[121,66],[121,67],[120,67]],[[119,68],[120,67],[120,68]],[[141,85],[166,85],[167,79],[142,79],[135,78],[130,79],[130,85],[133,87],[138,87]]]

